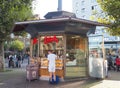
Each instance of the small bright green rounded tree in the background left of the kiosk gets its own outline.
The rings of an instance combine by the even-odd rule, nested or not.
[[[24,43],[22,41],[15,40],[11,43],[11,48],[14,50],[21,51],[24,49]]]

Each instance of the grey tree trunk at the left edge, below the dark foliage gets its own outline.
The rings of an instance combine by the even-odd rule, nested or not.
[[[4,43],[0,42],[0,70],[5,69]]]

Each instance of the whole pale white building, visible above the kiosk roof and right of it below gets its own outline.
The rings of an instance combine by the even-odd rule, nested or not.
[[[96,21],[97,16],[102,12],[100,5],[97,3],[97,0],[73,0],[72,7],[73,13],[75,13],[78,18],[87,20]],[[111,48],[115,53],[119,51],[120,37],[109,35],[104,27],[96,27],[95,34],[92,35],[97,36],[99,34],[104,36],[106,51]]]

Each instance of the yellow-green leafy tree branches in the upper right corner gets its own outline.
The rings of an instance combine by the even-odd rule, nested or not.
[[[97,0],[111,35],[120,35],[120,0]],[[103,15],[102,15],[103,16]]]

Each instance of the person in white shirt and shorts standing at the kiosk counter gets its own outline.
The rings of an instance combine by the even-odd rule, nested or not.
[[[56,81],[56,75],[55,75],[55,59],[57,56],[53,54],[51,50],[48,51],[48,70],[49,70],[49,80],[52,81],[52,75],[54,77],[54,81]]]

